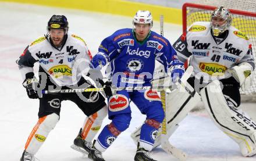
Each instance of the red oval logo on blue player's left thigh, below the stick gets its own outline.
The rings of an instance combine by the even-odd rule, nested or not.
[[[119,110],[123,110],[129,106],[129,101],[125,95],[114,95],[108,101],[109,110],[112,112],[116,112]]]

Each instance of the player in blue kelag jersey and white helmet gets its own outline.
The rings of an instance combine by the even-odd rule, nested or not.
[[[133,18],[133,28],[123,28],[106,37],[93,57],[94,68],[100,69],[109,63],[106,73],[110,73],[112,86],[144,87],[151,85],[155,60],[165,67],[172,76],[181,77],[184,73],[183,63],[177,60],[176,52],[170,42],[161,35],[151,31],[153,20],[148,10],[138,10]],[[175,78],[174,78],[175,79]],[[88,157],[93,160],[104,160],[104,152],[130,124],[130,101],[147,115],[141,127],[140,142],[134,160],[154,160],[149,152],[154,144],[165,113],[161,99],[156,91],[117,91],[108,98],[108,115],[112,120],[104,127]]]

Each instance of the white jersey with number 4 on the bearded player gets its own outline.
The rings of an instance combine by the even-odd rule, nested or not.
[[[55,48],[49,41],[49,37],[44,36],[31,42],[16,61],[23,79],[33,72],[34,63],[38,62],[59,86],[76,84],[90,69],[91,53],[86,42],[74,34],[67,34],[62,48]]]

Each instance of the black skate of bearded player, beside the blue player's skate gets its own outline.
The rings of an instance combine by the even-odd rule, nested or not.
[[[85,141],[81,137],[82,129],[80,128],[79,134],[74,139],[74,144],[70,147],[78,152],[83,153],[84,155],[88,155],[88,153],[91,151],[91,142]]]

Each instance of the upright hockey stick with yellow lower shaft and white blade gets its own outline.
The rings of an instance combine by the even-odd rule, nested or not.
[[[163,36],[163,15],[160,16],[160,33]],[[180,81],[179,83],[182,83],[182,81]],[[166,114],[166,91],[161,91],[161,102],[162,102],[163,110]],[[162,149],[165,152],[175,156],[175,158],[179,160],[186,160],[187,158],[186,153],[184,153],[180,149],[175,148],[175,146],[170,144],[168,140],[168,135],[166,132],[167,132],[167,126],[166,126],[166,115],[165,115],[165,118],[163,119],[163,122],[162,122],[162,134],[161,134]]]

